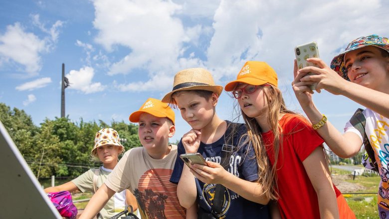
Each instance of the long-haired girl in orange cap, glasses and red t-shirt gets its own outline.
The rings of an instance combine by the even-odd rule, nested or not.
[[[337,197],[341,210],[353,215],[332,183],[323,139],[286,108],[277,80],[267,63],[248,61],[224,90],[237,99],[254,147],[267,152],[281,218],[339,218]]]

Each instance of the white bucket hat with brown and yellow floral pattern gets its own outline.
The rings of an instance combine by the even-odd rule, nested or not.
[[[95,146],[92,149],[92,156],[96,156],[96,148],[104,146],[106,144],[116,145],[122,148],[123,152],[124,146],[120,143],[120,138],[118,132],[113,128],[102,128],[96,133],[95,136]]]

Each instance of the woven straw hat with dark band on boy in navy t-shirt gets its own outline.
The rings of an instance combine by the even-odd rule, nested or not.
[[[203,68],[184,69],[174,76],[173,90],[165,95],[162,102],[171,103],[173,93],[188,90],[211,91],[220,96],[223,87],[215,85],[211,73]]]

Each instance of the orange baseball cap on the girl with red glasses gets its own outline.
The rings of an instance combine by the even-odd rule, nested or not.
[[[278,86],[277,73],[266,62],[248,61],[240,70],[235,81],[225,85],[225,91],[232,91],[237,83],[249,85],[264,85],[266,83]]]

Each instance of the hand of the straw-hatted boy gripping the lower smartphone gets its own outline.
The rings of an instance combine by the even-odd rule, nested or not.
[[[230,175],[220,164],[207,161],[208,166],[201,164],[191,165],[193,175],[203,183],[223,184],[226,177]]]

